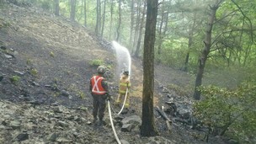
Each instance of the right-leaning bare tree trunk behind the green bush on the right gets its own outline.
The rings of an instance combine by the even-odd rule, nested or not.
[[[205,40],[204,40],[204,48],[201,51],[200,58],[198,60],[198,68],[197,68],[197,75],[195,78],[195,91],[194,91],[194,99],[200,100],[200,90],[198,87],[202,84],[202,78],[205,70],[205,62],[207,60],[207,56],[211,50],[211,32],[212,27],[216,18],[216,11],[220,7],[223,0],[216,0],[216,3],[210,6],[211,14],[208,19],[208,24],[205,30]]]

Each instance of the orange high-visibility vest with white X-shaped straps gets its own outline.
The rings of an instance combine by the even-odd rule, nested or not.
[[[92,93],[99,94],[99,95],[107,93],[101,85],[101,82],[103,79],[104,79],[104,77],[100,77],[100,76],[93,76],[91,78],[91,83],[92,83],[92,87],[93,87]]]

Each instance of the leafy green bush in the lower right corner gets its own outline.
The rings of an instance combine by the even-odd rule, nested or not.
[[[195,116],[217,135],[228,135],[242,143],[255,142],[256,83],[245,82],[234,90],[201,87],[204,99],[195,103]]]

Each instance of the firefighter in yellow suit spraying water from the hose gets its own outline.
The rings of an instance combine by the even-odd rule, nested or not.
[[[129,108],[130,104],[130,88],[131,88],[131,81],[129,76],[129,71],[123,72],[123,74],[120,77],[120,83],[119,83],[119,95],[115,101],[115,104],[120,105],[121,99],[125,99],[125,94],[127,90],[127,96],[125,101],[125,108]]]

